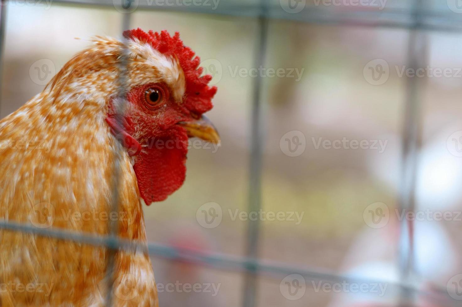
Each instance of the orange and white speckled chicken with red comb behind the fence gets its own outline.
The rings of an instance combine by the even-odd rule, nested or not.
[[[179,34],[123,36],[94,38],[0,121],[1,221],[101,236],[116,221],[118,237],[146,244],[142,207],[182,185],[188,137],[219,142],[202,115],[217,89]],[[158,306],[146,252],[0,231],[1,307],[105,306],[110,295]]]

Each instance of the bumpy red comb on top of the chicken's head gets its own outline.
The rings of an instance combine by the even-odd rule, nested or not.
[[[148,33],[141,30],[140,28],[134,30],[127,30],[123,32],[123,35],[128,39],[137,38],[140,41],[151,44],[151,46],[158,52],[175,57],[184,72],[186,79],[186,91],[183,99],[184,106],[189,111],[202,114],[212,108],[212,98],[217,92],[215,86],[209,87],[207,84],[212,80],[211,75],[205,75],[201,77],[203,71],[202,67],[199,67],[201,59],[196,56],[191,48],[183,45],[180,40],[180,33],[175,32],[174,36],[163,30],[160,32]]]

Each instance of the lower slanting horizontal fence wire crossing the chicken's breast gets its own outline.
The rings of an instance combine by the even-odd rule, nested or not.
[[[12,221],[0,221],[0,229],[30,233],[38,236],[52,237],[58,240],[66,240],[74,243],[88,244],[93,246],[102,246],[110,249],[125,251],[141,251],[153,256],[167,260],[187,261],[195,265],[212,267],[219,270],[231,272],[259,272],[259,275],[278,278],[282,280],[291,274],[300,274],[306,281],[324,282],[324,283],[349,283],[349,284],[382,284],[387,285],[387,296],[399,295],[399,291],[406,290],[415,295],[426,297],[428,300],[437,302],[442,306],[457,306],[450,299],[447,291],[432,286],[432,292],[419,289],[417,284],[400,284],[391,283],[384,280],[366,279],[347,275],[335,274],[332,272],[322,272],[320,270],[304,269],[300,267],[286,266],[276,262],[263,260],[250,260],[243,257],[230,256],[219,253],[204,253],[171,247],[168,245],[131,241],[116,236],[101,236],[91,233],[78,233],[65,229],[56,228],[37,228],[31,224],[16,223]],[[249,267],[255,267],[256,270],[249,270]]]

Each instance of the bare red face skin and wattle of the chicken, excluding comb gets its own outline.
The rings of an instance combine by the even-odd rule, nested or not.
[[[157,89],[161,99],[156,105],[146,100],[146,90]],[[174,101],[163,83],[149,83],[127,94],[127,114],[117,120],[109,112],[106,121],[113,134],[121,136],[138,179],[141,197],[147,205],[163,201],[178,189],[185,179],[188,134],[178,122],[194,117],[180,102]],[[118,124],[120,123],[120,124]]]

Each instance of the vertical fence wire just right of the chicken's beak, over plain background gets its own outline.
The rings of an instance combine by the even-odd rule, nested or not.
[[[268,19],[266,1],[261,2],[261,16],[259,23],[259,41],[255,53],[255,67],[265,64]],[[249,212],[258,212],[261,208],[261,160],[263,136],[261,129],[261,76],[255,78],[253,89],[253,105],[251,120],[250,137],[250,174],[249,174]],[[246,255],[249,261],[246,263],[248,273],[244,277],[243,307],[256,306],[256,288],[258,282],[258,272],[256,261],[258,258],[259,227],[258,218],[254,221],[249,220],[247,230],[247,249]]]

